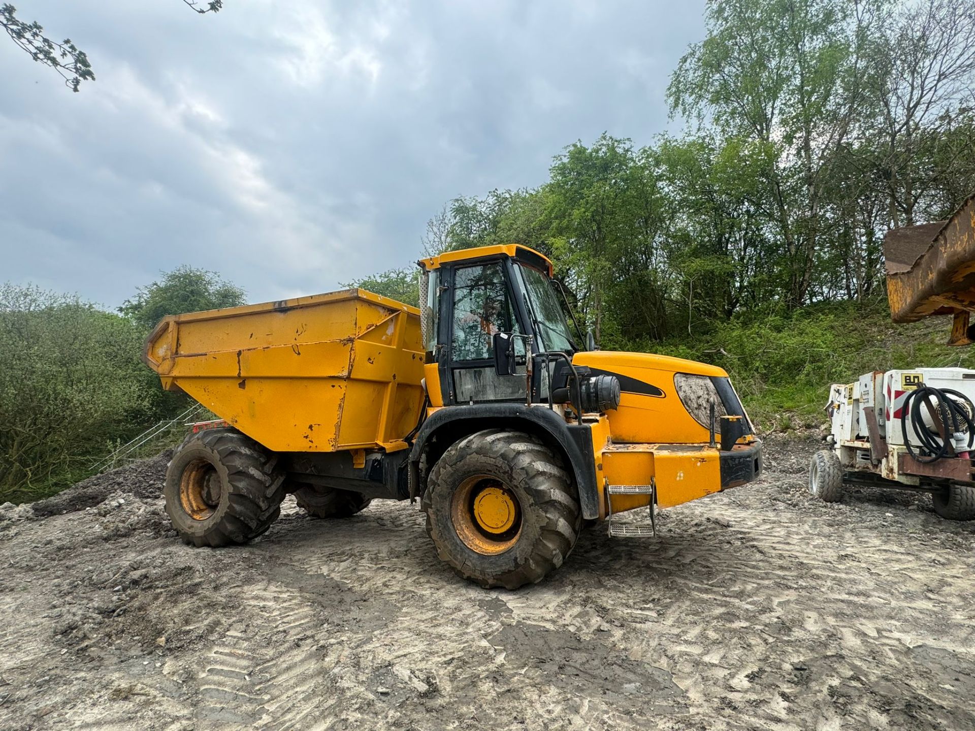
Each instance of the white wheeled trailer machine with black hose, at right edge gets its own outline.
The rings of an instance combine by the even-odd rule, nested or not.
[[[935,512],[975,519],[975,370],[865,373],[830,387],[830,448],[816,452],[809,491],[827,502],[843,484],[931,493]]]

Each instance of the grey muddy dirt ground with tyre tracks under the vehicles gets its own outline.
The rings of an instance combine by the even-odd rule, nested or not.
[[[407,503],[189,548],[168,455],[0,508],[0,728],[975,728],[975,525],[813,502],[817,446],[518,592],[456,578]]]

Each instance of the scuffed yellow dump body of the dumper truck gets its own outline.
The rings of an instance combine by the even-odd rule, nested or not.
[[[403,449],[423,405],[419,311],[365,289],[170,316],[144,360],[274,451]]]

